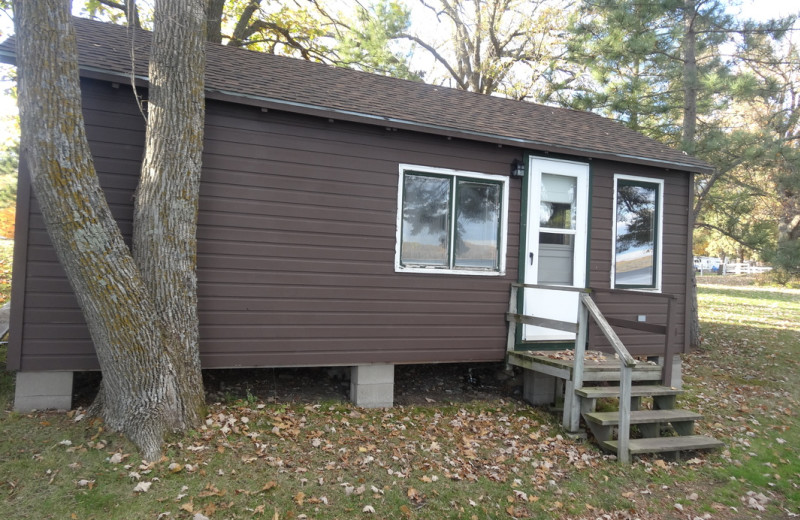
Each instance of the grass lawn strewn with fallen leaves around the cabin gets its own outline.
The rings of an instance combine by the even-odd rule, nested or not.
[[[800,291],[703,286],[700,306],[704,346],[685,359],[679,404],[705,414],[698,429],[725,442],[718,452],[622,466],[518,401],[359,410],[243,395],[211,405],[201,429],[143,465],[80,410],[6,411],[0,518],[800,514]]]

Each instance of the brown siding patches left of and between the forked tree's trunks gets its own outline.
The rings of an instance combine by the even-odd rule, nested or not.
[[[132,195],[139,175],[144,119],[130,88],[82,84],[91,102],[84,103],[86,133],[95,168],[111,212],[130,244]],[[83,316],[47,236],[35,198],[29,205],[27,266],[21,336],[21,370],[84,370],[97,368]]]

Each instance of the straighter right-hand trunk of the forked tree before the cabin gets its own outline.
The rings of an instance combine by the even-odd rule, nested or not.
[[[165,330],[184,426],[205,406],[197,322],[197,206],[203,152],[204,0],[155,5],[147,134],[133,215],[133,256]],[[180,24],[172,20],[181,20]]]

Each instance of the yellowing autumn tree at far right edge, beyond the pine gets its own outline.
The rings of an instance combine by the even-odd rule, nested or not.
[[[707,190],[698,224],[800,274],[800,56],[791,39],[747,35],[740,69],[752,95],[726,113],[730,175]]]

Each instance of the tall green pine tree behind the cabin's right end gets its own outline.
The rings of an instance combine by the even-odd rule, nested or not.
[[[585,1],[571,25],[570,59],[589,74],[573,84],[571,106],[616,118],[716,167],[696,179],[692,219],[700,225],[722,207],[710,204],[714,193],[727,192],[730,202],[738,199],[727,208],[741,216],[757,214],[748,208],[752,200],[734,196],[741,190],[715,186],[720,179],[734,179],[737,169],[752,169],[752,159],[769,147],[755,134],[729,126],[729,114],[731,107],[768,88],[745,68],[765,63],[769,42],[784,37],[794,21],[743,23],[725,8],[718,0]],[[741,224],[731,218],[727,222]],[[764,221],[753,221],[747,226],[750,236],[730,226],[728,232],[763,250],[764,242],[753,241],[752,234],[763,235],[766,227]],[[691,343],[697,345],[696,297],[692,305]]]

